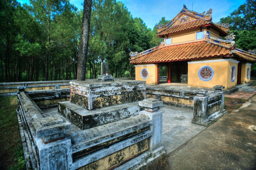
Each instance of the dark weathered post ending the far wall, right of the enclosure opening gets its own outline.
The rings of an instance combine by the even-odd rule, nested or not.
[[[194,97],[194,117],[192,123],[206,126],[207,109],[208,109],[208,90],[198,89]]]

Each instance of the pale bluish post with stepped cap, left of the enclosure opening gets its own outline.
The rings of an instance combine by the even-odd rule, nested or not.
[[[150,130],[153,133],[150,137],[151,150],[160,147],[162,143],[163,112],[158,110],[159,106],[162,105],[162,101],[152,98],[147,98],[139,102],[139,106],[145,107],[145,110],[140,111],[140,114],[146,114],[152,120],[152,125],[150,126]]]

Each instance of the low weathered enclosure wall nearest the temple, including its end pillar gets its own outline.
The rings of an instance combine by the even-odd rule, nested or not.
[[[216,89],[188,87],[146,86],[147,98],[155,98],[164,104],[194,110],[192,123],[209,126],[214,120],[226,114],[224,109],[223,86]]]

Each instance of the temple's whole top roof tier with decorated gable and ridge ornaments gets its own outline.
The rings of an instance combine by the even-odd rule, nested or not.
[[[207,11],[208,14],[201,14],[195,11],[190,11],[183,8],[179,14],[174,17],[172,21],[166,25],[159,25],[157,29],[157,36],[162,37],[167,34],[175,32],[185,31],[198,27],[211,26],[214,29],[222,33],[223,36],[227,36],[229,33],[228,27],[223,27],[220,24],[211,22],[212,15],[211,9]]]

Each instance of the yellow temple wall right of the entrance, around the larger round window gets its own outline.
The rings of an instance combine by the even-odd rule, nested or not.
[[[220,58],[199,60],[198,62],[188,62],[188,86],[212,88],[215,85],[222,85],[226,89],[236,86],[238,63]],[[209,81],[203,81],[198,76],[198,71],[203,66],[209,66],[214,71],[214,76]],[[231,81],[232,66],[236,68],[235,80],[233,82]]]

